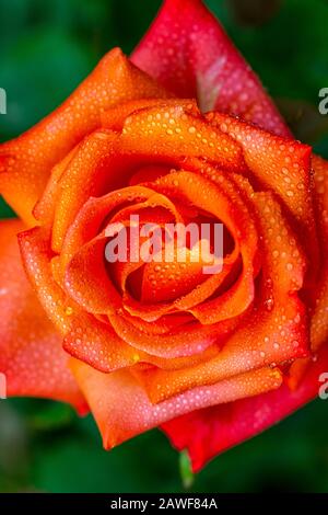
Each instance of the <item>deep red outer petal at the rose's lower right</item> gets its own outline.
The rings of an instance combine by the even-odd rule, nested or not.
[[[218,454],[255,436],[314,399],[321,385],[319,376],[327,367],[328,345],[323,347],[318,359],[312,362],[295,390],[283,385],[269,393],[194,411],[162,428],[177,449],[188,449],[197,472]]]

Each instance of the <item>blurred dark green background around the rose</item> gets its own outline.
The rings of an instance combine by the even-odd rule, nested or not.
[[[0,141],[55,108],[113,46],[130,53],[160,0],[0,0]],[[208,0],[295,135],[328,157],[327,0]],[[0,215],[12,216],[1,201]],[[40,400],[0,401],[0,491],[328,492],[328,404],[315,401],[194,478],[152,431],[112,453],[91,417]]]

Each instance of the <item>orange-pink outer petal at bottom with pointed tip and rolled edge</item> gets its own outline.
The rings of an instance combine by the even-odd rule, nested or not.
[[[71,366],[98,424],[105,448],[114,447],[200,405],[234,401],[281,385],[279,370],[261,368],[152,404],[129,370],[102,374],[75,359]]]

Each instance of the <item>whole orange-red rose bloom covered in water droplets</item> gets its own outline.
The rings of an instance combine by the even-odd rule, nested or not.
[[[9,396],[91,410],[105,448],[160,426],[199,470],[317,394],[328,163],[200,1],[166,0],[131,59],[109,52],[0,147],[0,171],[19,216],[0,236]],[[223,224],[221,272],[181,263],[189,248],[108,263],[106,227],[131,215]]]

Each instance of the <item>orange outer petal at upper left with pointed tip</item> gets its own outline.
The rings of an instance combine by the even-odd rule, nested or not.
[[[118,102],[166,98],[165,90],[116,48],[52,114],[16,139],[0,146],[0,191],[27,224],[51,168],[101,125],[101,113]]]

